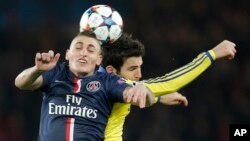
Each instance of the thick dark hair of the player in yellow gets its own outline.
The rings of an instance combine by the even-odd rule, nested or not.
[[[102,66],[112,65],[118,72],[124,61],[129,57],[145,55],[144,45],[131,34],[123,33],[122,36],[109,46],[103,46]]]

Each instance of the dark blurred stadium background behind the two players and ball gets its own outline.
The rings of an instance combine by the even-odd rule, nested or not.
[[[62,54],[82,13],[107,4],[124,30],[146,46],[143,78],[189,63],[224,39],[237,44],[232,61],[219,60],[180,90],[189,106],[131,109],[124,141],[228,141],[230,124],[250,124],[250,2],[248,0],[16,0],[0,2],[0,141],[36,141],[41,94],[14,86],[35,53]]]

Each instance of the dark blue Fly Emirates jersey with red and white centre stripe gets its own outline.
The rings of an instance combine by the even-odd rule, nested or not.
[[[113,74],[76,78],[66,63],[43,74],[40,141],[99,141],[115,102],[128,87]]]

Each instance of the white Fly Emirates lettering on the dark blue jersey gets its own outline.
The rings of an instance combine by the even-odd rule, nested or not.
[[[49,103],[49,114],[55,115],[74,115],[85,118],[97,118],[97,110],[90,109],[86,106],[82,107],[82,98],[74,95],[66,95],[66,102],[68,105],[57,105],[55,103]],[[71,106],[70,104],[76,104],[76,106]]]

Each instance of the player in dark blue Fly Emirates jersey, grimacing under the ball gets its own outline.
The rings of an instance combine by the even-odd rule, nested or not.
[[[39,141],[101,141],[115,102],[141,108],[154,96],[144,85],[131,87],[116,75],[96,72],[102,51],[95,35],[84,31],[71,42],[67,63],[60,54],[37,53],[35,66],[22,71],[15,85],[43,93]]]

